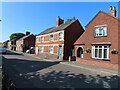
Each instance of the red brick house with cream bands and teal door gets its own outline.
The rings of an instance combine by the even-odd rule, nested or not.
[[[84,32],[78,20],[64,23],[58,17],[56,26],[36,36],[36,54],[47,58],[68,60],[73,54],[74,43]]]

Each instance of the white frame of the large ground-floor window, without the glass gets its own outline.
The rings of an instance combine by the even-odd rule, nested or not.
[[[98,46],[98,48],[95,48],[95,46]],[[102,46],[102,48],[99,48],[99,46]],[[107,48],[104,48],[106,46]],[[97,57],[95,57],[95,49],[97,49]],[[102,58],[99,58],[99,49],[102,49]],[[104,49],[107,49],[107,58],[104,58]],[[94,59],[109,59],[109,45],[94,45],[92,46],[92,58]]]

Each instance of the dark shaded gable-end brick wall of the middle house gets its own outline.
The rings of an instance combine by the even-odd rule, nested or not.
[[[80,35],[84,32],[81,24],[76,20],[65,30],[64,34],[64,59],[68,60],[70,55],[70,50],[74,49],[74,43],[79,38]]]

